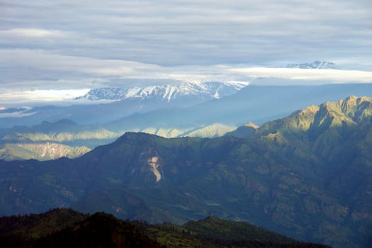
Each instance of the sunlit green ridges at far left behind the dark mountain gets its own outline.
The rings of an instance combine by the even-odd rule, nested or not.
[[[32,127],[15,126],[0,129],[0,159],[74,158],[117,137],[117,133],[99,125],[78,125],[70,120],[44,121]]]

